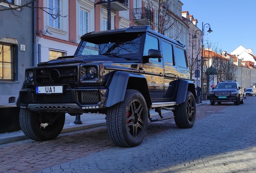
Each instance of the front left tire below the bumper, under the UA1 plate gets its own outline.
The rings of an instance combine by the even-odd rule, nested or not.
[[[30,109],[21,109],[19,119],[23,133],[35,141],[47,141],[56,138],[63,129],[65,123],[65,114],[61,113],[60,117],[52,124],[45,128],[41,123],[47,123],[56,116],[57,113],[36,113]]]

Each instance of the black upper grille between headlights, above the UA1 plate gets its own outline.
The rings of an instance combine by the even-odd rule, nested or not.
[[[50,78],[52,70],[58,70],[60,73],[56,81]],[[35,70],[35,75],[38,84],[72,83],[76,82],[78,72],[77,66],[39,68]]]

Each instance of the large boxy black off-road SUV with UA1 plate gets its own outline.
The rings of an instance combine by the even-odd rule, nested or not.
[[[180,128],[193,127],[196,92],[189,79],[185,46],[150,26],[90,32],[74,56],[25,70],[21,129],[44,141],[60,134],[65,113],[103,113],[112,141],[134,147],[143,141],[148,119],[174,118]],[[150,109],[160,118],[152,119]],[[174,117],[163,117],[161,109]]]

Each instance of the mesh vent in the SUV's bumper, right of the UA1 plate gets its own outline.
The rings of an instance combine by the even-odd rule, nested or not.
[[[99,91],[78,91],[78,101],[83,104],[99,103]]]

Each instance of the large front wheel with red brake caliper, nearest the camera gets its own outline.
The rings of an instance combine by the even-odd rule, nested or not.
[[[124,101],[117,103],[106,113],[107,133],[120,147],[136,147],[145,138],[148,125],[148,109],[143,95],[136,90],[126,90]]]

